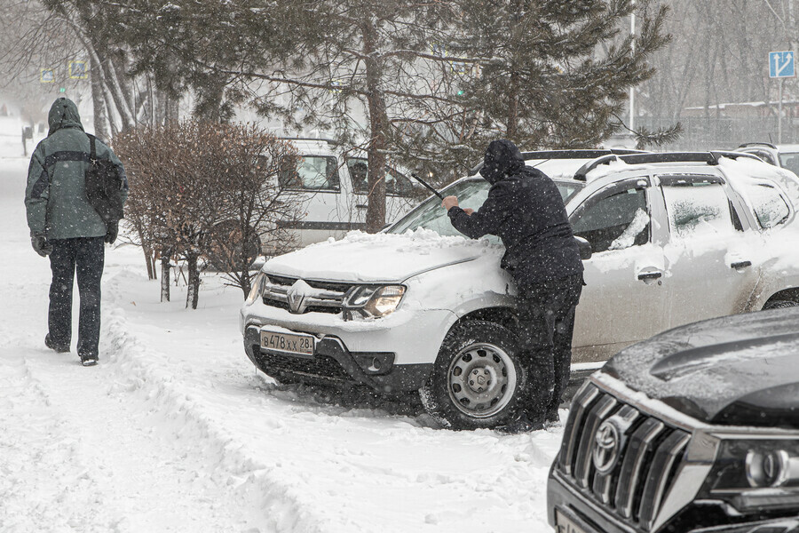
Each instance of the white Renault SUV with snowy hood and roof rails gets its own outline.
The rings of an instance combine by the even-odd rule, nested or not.
[[[593,248],[573,363],[687,322],[799,303],[788,244],[799,242],[799,198],[774,167],[740,153],[525,157],[555,180],[575,235]],[[444,194],[477,209],[488,188],[470,177]],[[241,308],[246,353],[283,382],[419,390],[443,426],[501,425],[524,379],[502,251],[494,237],[459,235],[431,197],[382,234],[271,259]]]

